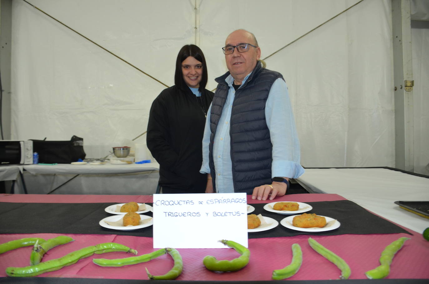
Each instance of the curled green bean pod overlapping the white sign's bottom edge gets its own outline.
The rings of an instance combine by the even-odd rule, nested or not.
[[[217,260],[216,257],[208,255],[204,257],[202,263],[205,268],[211,271],[237,271],[249,263],[250,251],[237,242],[221,240],[219,241],[230,248],[235,249],[241,256],[233,260]]]

